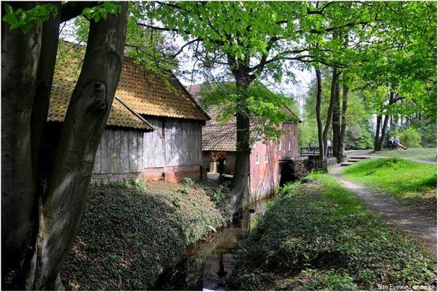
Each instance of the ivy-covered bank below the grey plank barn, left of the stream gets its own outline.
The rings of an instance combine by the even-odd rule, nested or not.
[[[217,185],[94,184],[81,230],[62,268],[72,290],[146,290],[186,246],[229,221],[207,193]]]

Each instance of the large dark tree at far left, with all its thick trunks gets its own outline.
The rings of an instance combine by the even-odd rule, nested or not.
[[[98,5],[96,5],[98,4]],[[123,62],[127,3],[2,3],[2,283],[60,289]],[[90,19],[86,56],[51,165],[43,134],[60,23]]]

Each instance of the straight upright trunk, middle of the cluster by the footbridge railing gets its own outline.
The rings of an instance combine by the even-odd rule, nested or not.
[[[339,104],[339,75],[337,69],[333,68],[331,80],[331,99],[333,98],[332,130],[333,130],[333,156],[339,155],[339,143],[341,138],[341,108]]]

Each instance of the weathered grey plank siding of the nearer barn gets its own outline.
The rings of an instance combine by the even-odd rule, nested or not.
[[[201,165],[201,123],[158,117],[147,120],[155,128],[153,132],[106,128],[96,152],[94,173]]]

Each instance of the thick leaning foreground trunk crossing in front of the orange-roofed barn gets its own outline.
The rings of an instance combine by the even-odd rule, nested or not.
[[[40,204],[34,289],[54,289],[86,206],[88,188],[123,63],[127,3],[120,14],[91,21],[85,58]],[[59,279],[59,278],[58,278]]]

